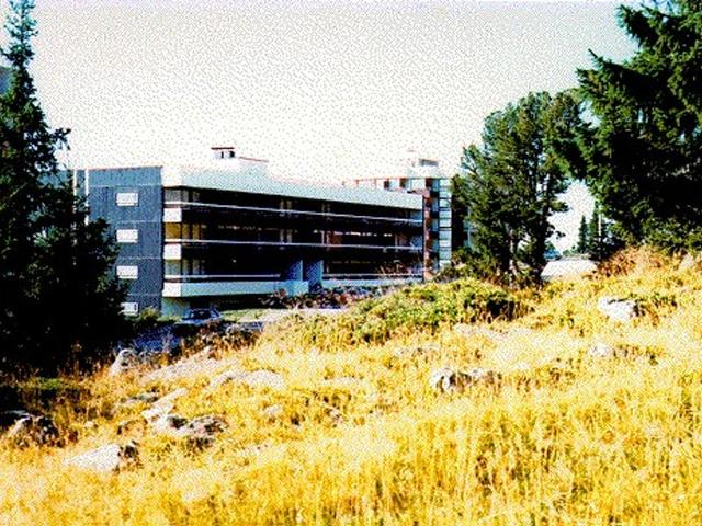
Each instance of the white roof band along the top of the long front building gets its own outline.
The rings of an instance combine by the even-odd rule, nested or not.
[[[165,165],[161,184],[163,187],[222,190],[414,210],[421,210],[423,205],[423,197],[419,194],[281,181],[269,176],[264,168],[261,169],[254,163],[244,164],[238,169],[224,165]]]

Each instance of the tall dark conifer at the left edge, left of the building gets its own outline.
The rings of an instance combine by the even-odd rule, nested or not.
[[[105,350],[123,328],[123,289],[109,270],[104,222],[86,224],[29,72],[36,34],[30,0],[11,1],[2,49],[12,71],[0,96],[0,369],[56,370]],[[77,353],[80,351],[79,353]]]

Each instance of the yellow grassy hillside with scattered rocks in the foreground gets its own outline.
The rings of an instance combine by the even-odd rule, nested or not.
[[[181,377],[82,380],[54,409],[65,447],[1,443],[0,524],[699,524],[702,277],[646,253],[608,273],[519,295],[415,287],[284,321]],[[609,320],[604,296],[636,318]],[[442,392],[445,366],[495,376]],[[211,385],[228,369],[282,384]],[[121,404],[179,388],[173,413],[226,421],[212,445]],[[128,439],[139,461],[120,472],[65,464]]]

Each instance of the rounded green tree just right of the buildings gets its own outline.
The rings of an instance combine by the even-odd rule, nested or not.
[[[566,210],[558,196],[579,159],[580,125],[574,93],[530,93],[486,118],[480,148],[464,149],[454,192],[466,202],[466,260],[478,275],[539,279],[554,233],[550,218]]]

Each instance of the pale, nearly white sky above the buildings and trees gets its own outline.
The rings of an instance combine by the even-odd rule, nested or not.
[[[75,168],[234,145],[275,175],[338,182],[385,174],[411,147],[454,173],[490,112],[575,85],[589,48],[633,49],[616,3],[592,0],[37,4],[33,73],[50,125],[72,129]]]

